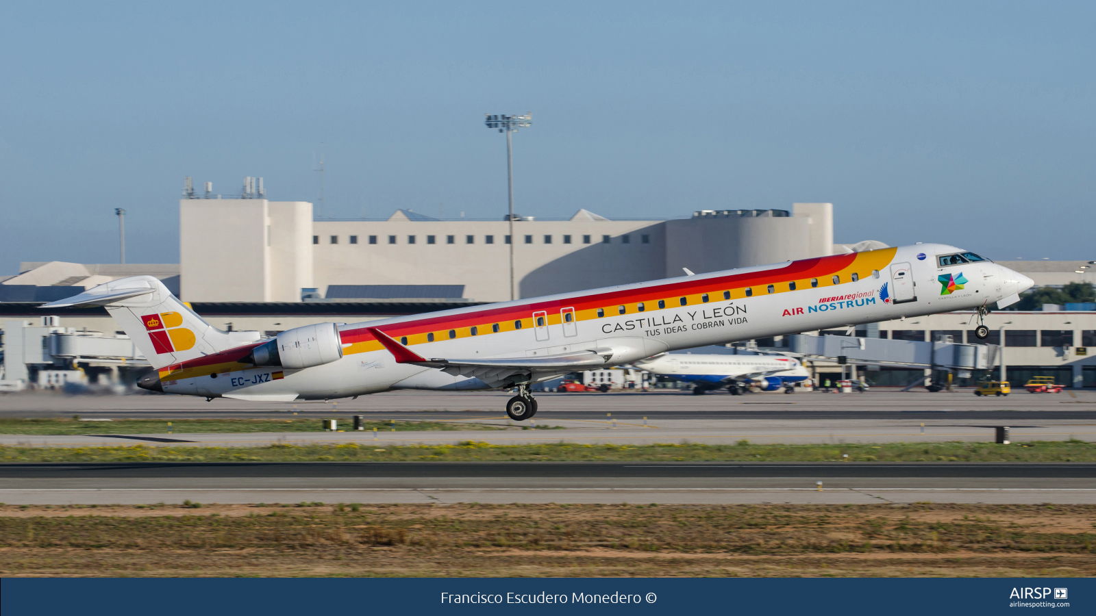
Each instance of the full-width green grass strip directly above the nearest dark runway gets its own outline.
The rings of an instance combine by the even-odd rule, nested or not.
[[[848,455],[848,458],[844,456]],[[0,461],[1096,461],[1096,444],[888,443],[881,445],[458,445],[346,443],[265,447],[0,447]]]

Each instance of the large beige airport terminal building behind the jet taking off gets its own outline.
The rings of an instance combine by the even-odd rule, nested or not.
[[[515,217],[510,221],[505,217],[438,219],[410,209],[398,209],[387,219],[317,219],[308,202],[270,201],[256,193],[239,196],[194,198],[187,193],[181,199],[178,264],[22,263],[18,275],[0,276],[4,341],[13,341],[14,330],[25,329],[26,335],[37,336],[25,344],[20,339],[19,353],[30,353],[25,362],[5,354],[8,376],[0,379],[18,375],[33,381],[37,369],[81,362],[100,372],[110,368],[112,377],[118,373],[112,366],[122,366],[123,372],[140,366],[142,358],[132,350],[126,351],[128,356],[95,358],[71,352],[43,355],[43,344],[54,343],[42,343],[42,336],[56,334],[60,341],[56,344],[64,342],[57,349],[71,351],[76,347],[59,336],[112,338],[121,332],[102,309],[61,310],[52,315],[59,320],[43,324],[35,308],[136,274],[160,278],[215,327],[274,335],[319,321],[367,321],[509,300],[512,239],[517,297],[680,276],[683,269],[706,273],[886,246],[872,240],[835,244],[829,203],[796,203],[789,209],[706,209],[663,220],[610,220],[579,209],[568,219]],[[1038,286],[1093,280],[1088,261],[1001,263],[1028,275]],[[992,376],[1000,375],[1004,365],[1005,376],[1013,381],[1044,375],[1073,387],[1096,387],[1096,352],[1089,355],[1096,346],[1096,307],[1042,308],[990,315],[986,324],[993,333],[985,342],[1002,345],[994,354],[997,367]],[[970,317],[934,315],[860,326],[859,330],[800,333],[922,342],[950,336],[947,340],[954,343],[975,343]],[[739,346],[788,352],[791,340],[757,340]],[[116,345],[101,345],[112,344]],[[820,378],[844,369],[831,357],[815,360],[812,365]],[[20,363],[28,367],[18,368]],[[860,375],[880,386],[905,385],[926,369],[861,364]],[[960,374],[966,370],[957,372],[957,378],[967,384],[991,373]]]

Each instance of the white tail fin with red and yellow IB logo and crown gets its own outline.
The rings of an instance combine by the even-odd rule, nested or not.
[[[41,308],[103,306],[155,368],[259,340],[254,331],[221,331],[198,317],[153,276],[129,276]]]

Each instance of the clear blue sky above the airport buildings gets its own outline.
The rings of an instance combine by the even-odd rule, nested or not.
[[[837,241],[1096,259],[1093,2],[5,2],[0,273],[176,262],[183,178],[327,214],[832,202]],[[210,224],[214,224],[212,221]]]

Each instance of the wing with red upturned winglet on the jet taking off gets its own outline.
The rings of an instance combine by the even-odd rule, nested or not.
[[[600,367],[607,364],[613,356],[612,349],[591,349],[540,357],[427,358],[392,340],[377,328],[366,328],[366,330],[392,354],[398,364],[438,368],[452,375],[479,378],[484,383],[499,383],[515,374],[528,374],[532,377],[534,373],[566,374],[576,369]]]

